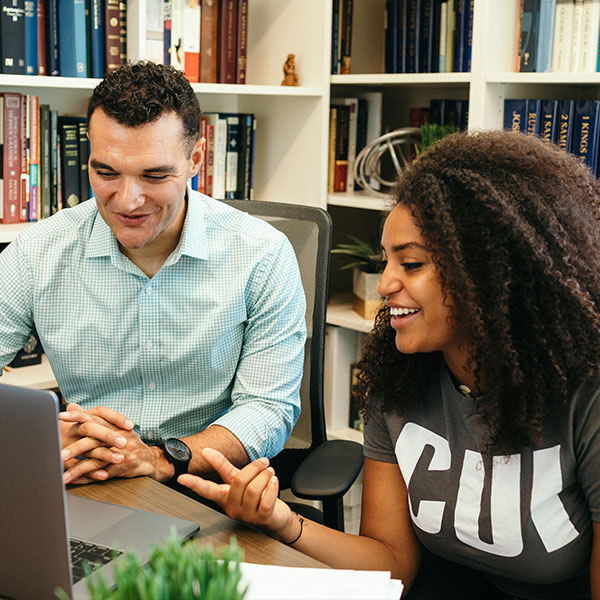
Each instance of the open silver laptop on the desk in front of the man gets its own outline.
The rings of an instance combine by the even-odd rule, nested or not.
[[[82,567],[72,565],[82,554],[92,562],[100,556],[112,583],[113,549],[146,561],[173,529],[181,539],[198,530],[190,521],[66,494],[57,413],[52,392],[0,384],[0,597],[55,598],[62,587],[88,598]]]

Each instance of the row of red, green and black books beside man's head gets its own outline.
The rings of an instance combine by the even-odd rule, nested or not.
[[[91,196],[85,117],[59,116],[38,96],[0,94],[0,223],[49,217]]]

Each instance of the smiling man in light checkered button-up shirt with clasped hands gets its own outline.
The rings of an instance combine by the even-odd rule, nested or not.
[[[68,483],[207,472],[206,446],[243,465],[277,454],[298,417],[306,331],[293,249],[188,188],[199,122],[174,69],[107,75],[88,106],[94,199],[0,254],[0,365],[37,331],[70,401]]]

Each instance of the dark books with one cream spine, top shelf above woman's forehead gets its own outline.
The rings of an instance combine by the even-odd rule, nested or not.
[[[386,73],[471,70],[474,0],[387,0]]]

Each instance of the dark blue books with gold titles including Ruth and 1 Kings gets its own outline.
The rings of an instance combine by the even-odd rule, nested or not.
[[[505,100],[504,128],[537,135],[578,156],[600,173],[599,100]]]

